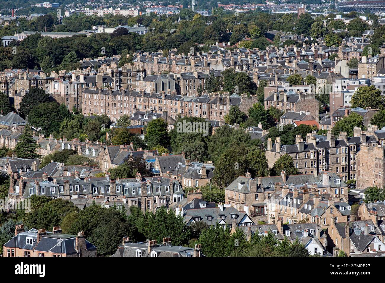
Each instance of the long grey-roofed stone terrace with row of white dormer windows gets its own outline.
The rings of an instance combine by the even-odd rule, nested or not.
[[[29,175],[32,171],[28,172]],[[171,204],[184,200],[182,184],[166,177],[142,178],[140,173],[136,178],[111,179],[106,177],[84,177],[79,171],[69,176],[49,176],[44,172],[40,178],[23,178],[17,173],[10,176],[8,199],[16,204],[30,198],[32,195],[42,195],[49,198],[103,198],[105,204],[109,201],[123,201],[128,206],[139,206],[143,212],[155,213],[160,206],[168,207]]]

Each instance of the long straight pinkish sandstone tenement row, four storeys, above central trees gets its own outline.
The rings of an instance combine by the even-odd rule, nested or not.
[[[237,106],[247,112],[258,101],[256,95],[229,95],[219,93],[203,94],[201,96],[177,95],[176,92],[146,93],[133,90],[114,91],[112,89],[85,89],[82,91],[84,115],[106,114],[112,121],[122,115],[132,115],[141,110],[154,112],[167,111],[169,117],[176,119],[179,115],[208,118],[209,120],[224,120],[231,106]]]

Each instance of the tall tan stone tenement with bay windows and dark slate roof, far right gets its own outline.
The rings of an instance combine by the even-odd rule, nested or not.
[[[361,156],[361,160],[367,160],[366,162],[370,163],[369,166],[373,164],[370,156],[368,157],[364,153],[359,154],[362,145],[369,144],[370,150],[372,150],[373,145],[378,144],[377,136],[370,133],[361,131],[361,128],[355,128],[354,137],[348,138],[346,133],[341,132],[339,138],[336,139],[328,131],[326,139],[321,140],[322,136],[317,136],[316,132],[313,132],[307,135],[306,142],[297,135],[295,145],[281,145],[280,138],[276,138],[273,145],[273,141],[269,139],[265,150],[266,158],[271,168],[278,158],[288,154],[293,158],[294,166],[303,174],[317,174],[321,170],[328,170],[335,172],[343,181],[356,179],[356,176],[363,174],[361,171],[358,173],[360,166],[368,166],[358,165],[358,156]],[[379,156],[383,156],[383,154],[377,155],[378,158],[380,158]],[[377,164],[377,166],[379,165]],[[373,170],[374,168],[372,172]],[[378,167],[376,171],[378,180]]]

